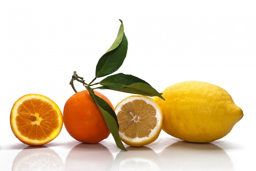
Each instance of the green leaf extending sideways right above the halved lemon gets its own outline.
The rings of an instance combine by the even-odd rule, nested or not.
[[[99,87],[100,89],[111,89],[126,93],[158,96],[159,98],[164,99],[161,93],[156,91],[150,84],[132,75],[118,73],[112,76],[108,76],[99,82],[99,84],[103,85],[103,87]]]

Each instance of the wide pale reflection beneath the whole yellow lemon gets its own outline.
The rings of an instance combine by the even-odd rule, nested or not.
[[[163,171],[232,171],[234,166],[229,155],[211,143],[178,141],[159,153]]]

